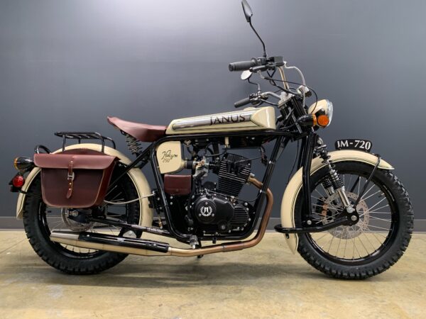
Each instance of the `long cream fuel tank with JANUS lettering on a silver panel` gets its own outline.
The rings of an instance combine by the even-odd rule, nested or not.
[[[244,130],[275,130],[275,110],[271,106],[245,108],[241,111],[179,118],[173,120],[165,133],[193,134],[237,132]]]

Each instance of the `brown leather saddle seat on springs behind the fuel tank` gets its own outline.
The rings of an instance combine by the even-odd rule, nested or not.
[[[122,130],[124,133],[133,136],[133,138],[141,142],[155,142],[155,140],[163,138],[165,130],[167,129],[167,126],[163,125],[129,122],[114,116],[108,116],[107,118],[109,124],[114,125],[116,128],[119,128],[119,130]]]

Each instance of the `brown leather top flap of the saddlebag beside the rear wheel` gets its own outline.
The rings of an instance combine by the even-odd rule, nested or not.
[[[73,169],[106,169],[116,159],[109,155],[35,154],[34,164],[40,168],[68,169],[72,162]]]

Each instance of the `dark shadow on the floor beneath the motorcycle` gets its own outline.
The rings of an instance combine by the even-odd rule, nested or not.
[[[238,284],[252,286],[253,281],[275,278],[285,283],[288,279],[331,279],[308,264],[256,264],[251,262],[221,262],[201,264],[199,260],[185,264],[171,263],[170,257],[163,257],[163,262],[123,262],[106,272],[89,276],[64,274],[47,265],[34,262],[36,257],[22,256],[19,264],[8,264],[2,273],[13,272],[18,281],[31,280],[33,284],[65,284],[84,286],[121,286],[138,288],[196,287],[205,285],[225,286]],[[17,260],[18,261],[18,260]]]

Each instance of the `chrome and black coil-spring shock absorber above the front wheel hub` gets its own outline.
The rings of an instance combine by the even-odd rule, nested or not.
[[[322,144],[316,147],[315,152],[322,158],[322,163],[326,164],[329,169],[329,177],[322,182],[322,186],[324,186],[324,189],[326,189],[329,195],[334,194],[334,191],[337,191],[346,211],[348,213],[354,212],[355,208],[351,206],[351,202],[349,201],[348,196],[346,196],[343,181],[339,174],[337,174],[337,171],[334,169],[334,165],[330,160],[327,145]]]

